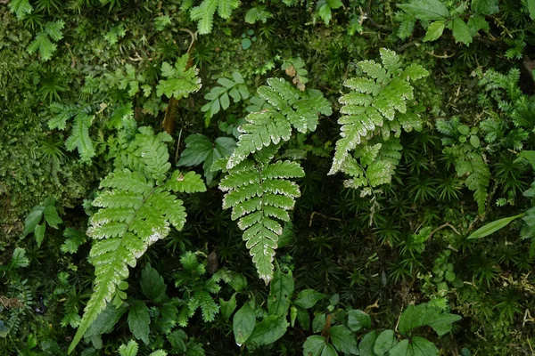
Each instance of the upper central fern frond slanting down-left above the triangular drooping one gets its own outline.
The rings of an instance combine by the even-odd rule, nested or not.
[[[268,86],[260,86],[258,93],[269,105],[245,117],[247,123],[238,128],[242,135],[228,159],[227,169],[272,143],[287,142],[292,136],[292,127],[303,134],[316,130],[319,114],[332,113],[321,92],[302,93],[283,78],[269,78]]]

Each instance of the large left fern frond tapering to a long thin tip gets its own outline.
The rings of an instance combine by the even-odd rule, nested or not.
[[[135,267],[147,247],[168,235],[171,225],[177,230],[184,227],[185,207],[174,193],[206,190],[199,174],[169,172],[165,142],[170,140],[169,134],[139,128],[126,150],[128,159],[123,156],[121,167],[100,184],[103,190],[93,201],[100,210],[91,216],[86,232],[95,239],[90,252],[95,286],[69,352],[107,303],[119,305],[126,298],[128,266]]]

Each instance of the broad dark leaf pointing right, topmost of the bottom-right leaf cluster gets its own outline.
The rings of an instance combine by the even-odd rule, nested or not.
[[[431,327],[439,336],[451,331],[451,324],[461,320],[461,316],[442,312],[427,303],[409,305],[399,318],[399,332],[408,335],[415,328]]]

